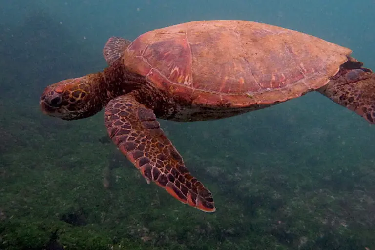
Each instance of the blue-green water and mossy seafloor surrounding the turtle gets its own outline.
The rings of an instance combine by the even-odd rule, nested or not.
[[[1,250],[374,250],[375,126],[319,93],[220,121],[160,121],[217,211],[183,205],[107,139],[43,115],[105,42],[187,21],[308,33],[375,69],[374,0],[0,0]]]

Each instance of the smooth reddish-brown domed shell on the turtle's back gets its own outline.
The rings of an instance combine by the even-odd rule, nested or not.
[[[283,102],[328,83],[351,50],[250,21],[195,21],[147,32],[124,64],[191,104],[232,107]]]

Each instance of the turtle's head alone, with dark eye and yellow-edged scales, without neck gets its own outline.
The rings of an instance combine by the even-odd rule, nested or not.
[[[86,118],[99,112],[103,105],[90,75],[67,79],[44,89],[40,107],[44,114],[63,120]]]

